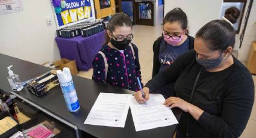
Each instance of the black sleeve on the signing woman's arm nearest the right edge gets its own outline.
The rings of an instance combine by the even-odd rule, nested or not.
[[[248,74],[237,73],[237,79],[229,80],[220,117],[204,112],[198,119],[217,137],[239,137],[246,127],[254,103],[254,82]]]

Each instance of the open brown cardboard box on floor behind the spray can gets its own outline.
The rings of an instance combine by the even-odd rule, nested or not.
[[[73,75],[78,74],[75,60],[71,61],[66,58],[61,58],[59,61],[55,61],[54,64],[58,70],[63,70],[64,67],[67,67],[67,68],[69,68],[71,74],[73,74]]]

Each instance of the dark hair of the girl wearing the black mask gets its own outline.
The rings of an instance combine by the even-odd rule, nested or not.
[[[114,14],[107,24],[107,30],[111,33],[116,29],[116,26],[130,26],[133,27],[130,17],[125,13]],[[106,32],[106,44],[110,42],[110,37]]]

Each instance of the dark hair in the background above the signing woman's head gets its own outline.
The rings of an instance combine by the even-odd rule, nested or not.
[[[237,22],[237,19],[239,16],[240,16],[240,10],[237,7],[230,7],[225,10],[224,17],[233,24]]]

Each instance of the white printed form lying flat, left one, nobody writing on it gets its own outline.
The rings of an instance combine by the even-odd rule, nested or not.
[[[131,94],[100,93],[84,124],[125,127]]]

